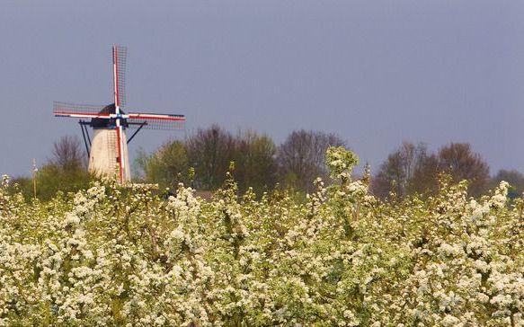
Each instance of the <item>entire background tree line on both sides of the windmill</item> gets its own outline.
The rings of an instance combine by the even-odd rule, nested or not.
[[[294,130],[277,145],[271,137],[253,130],[235,134],[212,125],[199,128],[183,140],[164,143],[152,153],[138,151],[134,181],[158,183],[175,190],[179,182],[197,190],[217,190],[230,173],[238,189],[256,193],[275,187],[302,193],[315,190],[314,181],[328,180],[325,152],[329,146],[345,146],[336,134]],[[67,192],[87,187],[96,178],[87,172],[87,156],[77,137],[62,137],[54,143],[51,158],[36,173],[37,197],[51,199],[58,190]],[[511,183],[510,198],[524,191],[524,174],[501,170],[490,176],[489,165],[467,143],[450,143],[435,153],[419,143],[404,142],[390,153],[372,174],[370,190],[377,198],[404,198],[436,194],[439,180],[467,180],[468,194],[478,197],[504,180]],[[14,183],[29,199],[33,180]]]

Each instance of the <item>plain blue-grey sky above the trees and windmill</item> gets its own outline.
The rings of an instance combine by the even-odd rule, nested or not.
[[[81,136],[53,101],[112,102],[115,43],[128,110],[183,113],[187,133],[333,132],[375,172],[403,140],[469,142],[492,173],[524,172],[522,1],[4,0],[0,40],[0,173]],[[145,131],[129,151],[177,137]]]

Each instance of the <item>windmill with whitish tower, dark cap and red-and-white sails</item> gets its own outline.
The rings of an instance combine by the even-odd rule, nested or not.
[[[117,173],[121,184],[130,181],[128,144],[141,129],[174,130],[183,128],[183,115],[125,112],[126,57],[125,47],[113,47],[114,103],[106,106],[55,102],[56,117],[79,119],[85,149],[89,155],[89,171],[107,176]],[[93,128],[93,140],[88,127]],[[134,129],[131,137],[127,129]]]

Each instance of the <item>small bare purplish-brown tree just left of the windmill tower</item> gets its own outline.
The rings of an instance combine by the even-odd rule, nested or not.
[[[58,142],[53,143],[53,158],[51,163],[64,171],[85,169],[86,155],[78,137],[61,137]]]

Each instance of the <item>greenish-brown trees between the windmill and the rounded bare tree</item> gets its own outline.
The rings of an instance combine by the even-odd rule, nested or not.
[[[245,131],[233,137],[212,126],[185,141],[168,142],[151,155],[140,151],[135,163],[142,181],[163,187],[175,189],[184,182],[199,190],[217,190],[231,171],[241,191],[253,188],[262,194],[276,183],[276,151],[265,135]]]

